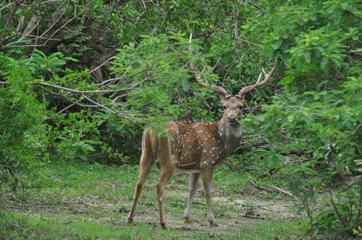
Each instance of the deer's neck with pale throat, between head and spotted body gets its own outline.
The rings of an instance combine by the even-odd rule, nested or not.
[[[229,156],[240,143],[242,125],[240,123],[231,124],[226,117],[223,117],[218,122],[218,136],[224,143],[226,156]]]

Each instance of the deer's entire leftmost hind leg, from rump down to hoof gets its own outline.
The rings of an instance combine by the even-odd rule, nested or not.
[[[144,145],[142,146],[142,156],[141,160],[139,161],[139,176],[138,176],[137,185],[135,187],[135,195],[133,196],[133,204],[131,212],[128,214],[128,223],[133,222],[133,217],[135,217],[135,210],[139,194],[141,194],[148,173],[150,173],[150,169],[152,165],[155,163],[155,160],[152,156],[152,149],[150,148],[150,143],[148,143],[149,141],[146,141],[146,138],[144,138],[143,142]]]

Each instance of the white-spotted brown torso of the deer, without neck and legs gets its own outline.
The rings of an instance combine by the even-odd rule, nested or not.
[[[199,172],[206,167],[215,167],[226,158],[218,123],[171,121],[165,128],[171,138],[151,136],[152,152],[161,166],[169,164],[174,171]]]

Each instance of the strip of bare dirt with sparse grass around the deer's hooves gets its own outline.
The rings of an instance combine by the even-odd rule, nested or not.
[[[184,238],[190,238],[193,233],[200,232],[224,236],[225,232],[240,232],[240,228],[243,227],[258,228],[260,226],[258,224],[297,218],[295,204],[290,197],[268,199],[264,192],[251,185],[238,189],[238,192],[229,193],[227,190],[227,187],[213,187],[212,209],[218,226],[211,227],[207,221],[201,185],[196,191],[188,223],[185,223],[183,216],[188,191],[185,188],[180,189],[177,182],[168,185],[163,197],[168,228],[177,230],[184,235]],[[101,226],[138,228],[139,224],[146,224],[148,230],[159,230],[159,211],[155,192],[155,187],[145,186],[139,198],[133,226],[126,224],[133,202],[126,195],[120,195],[117,200],[107,200],[98,195],[69,197],[56,193],[32,199],[34,203],[27,202],[25,206],[19,205],[18,200],[14,199],[11,199],[7,205],[12,211],[28,213],[40,219],[60,216],[57,219],[65,226],[73,221],[86,219]]]

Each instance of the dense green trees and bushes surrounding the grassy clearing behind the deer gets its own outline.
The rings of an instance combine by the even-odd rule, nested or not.
[[[289,189],[304,237],[361,236],[361,6],[0,1],[3,203],[25,203],[26,192],[53,186],[60,163],[130,169],[144,128],[167,136],[170,119],[217,121],[218,97],[194,81],[189,62],[237,93],[278,60],[273,80],[247,96],[245,137],[228,160],[232,171],[220,171]],[[16,224],[1,206],[6,234]]]

